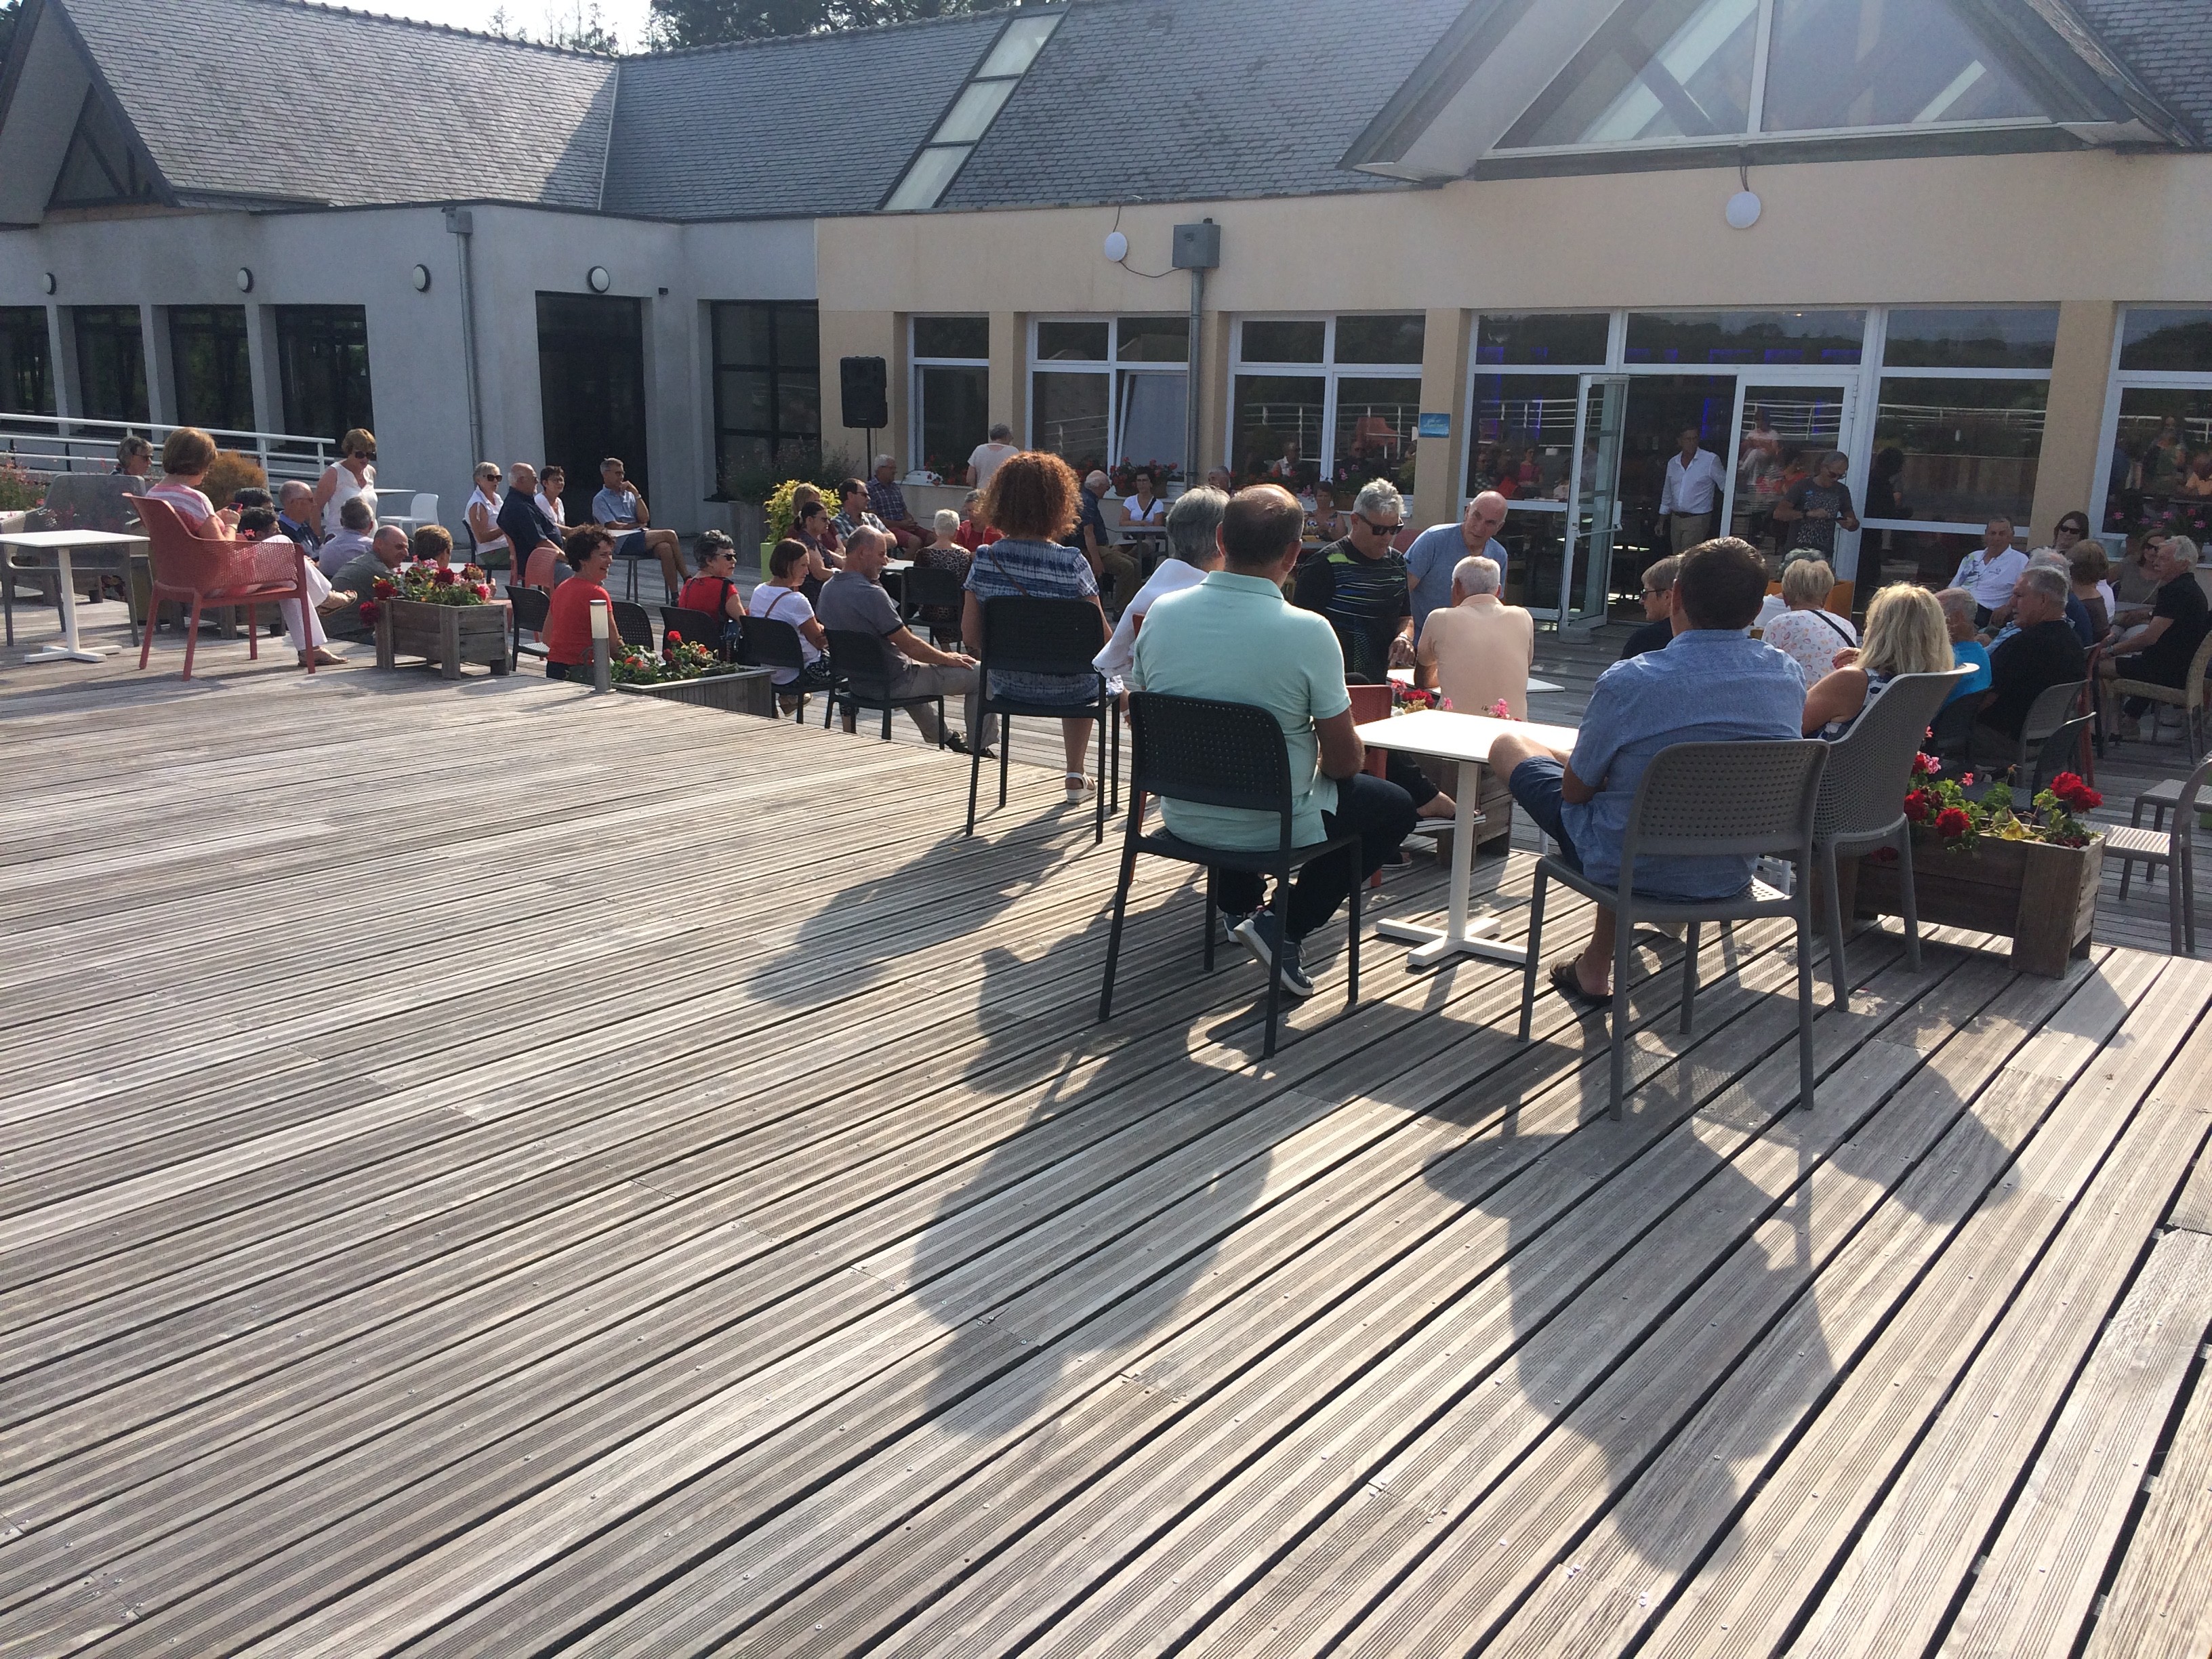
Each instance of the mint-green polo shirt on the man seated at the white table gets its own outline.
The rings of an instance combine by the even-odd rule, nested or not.
[[[1321,814],[1336,810],[1336,779],[1321,772],[1314,721],[1352,708],[1336,628],[1298,611],[1256,575],[1208,571],[1194,588],[1170,593],[1144,613],[1128,672],[1130,690],[1256,703],[1283,726],[1290,750],[1294,845],[1325,838]],[[1201,847],[1267,849],[1281,821],[1267,812],[1161,801],[1168,830]]]

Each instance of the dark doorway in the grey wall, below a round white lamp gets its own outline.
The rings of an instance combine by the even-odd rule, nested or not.
[[[619,456],[637,493],[653,504],[646,467],[644,303],[602,294],[538,296],[538,396],[546,451],[568,473],[562,507],[571,524],[591,518],[599,462]]]

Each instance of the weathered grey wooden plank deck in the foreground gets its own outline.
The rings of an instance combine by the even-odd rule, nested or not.
[[[1863,936],[1798,1113],[1783,936],[1688,1037],[1652,940],[1613,1124],[1376,940],[1259,1064],[1166,867],[1093,1024],[1042,772],[964,841],[911,743],[51,672],[0,1655],[2212,1646],[2212,964]]]

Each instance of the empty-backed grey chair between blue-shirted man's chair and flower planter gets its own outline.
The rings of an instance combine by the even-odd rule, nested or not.
[[[1905,953],[1920,971],[1920,918],[1913,914],[1913,834],[1905,821],[1913,757],[1929,721],[1942,708],[1966,668],[1940,675],[1898,675],[1858,717],[1858,723],[1827,745],[1820,774],[1820,805],[1814,810],[1812,843],[1827,880],[1827,971],[1836,982],[1836,1006],[1851,1006],[1843,962],[1843,896],[1836,863],[1876,847],[1896,847],[1905,896]]]

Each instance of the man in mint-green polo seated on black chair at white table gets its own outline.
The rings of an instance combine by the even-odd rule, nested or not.
[[[1292,880],[1281,938],[1274,914],[1261,909],[1261,878],[1237,869],[1219,876],[1230,931],[1263,967],[1281,956],[1283,989],[1301,998],[1314,993],[1298,960],[1305,936],[1413,830],[1413,799],[1360,770],[1367,752],[1354,730],[1336,630],[1327,617],[1283,602],[1303,531],[1305,509],[1279,484],[1256,484],[1230,500],[1219,531],[1221,568],[1152,604],[1128,672],[1133,690],[1265,708],[1290,750],[1292,843],[1358,834],[1358,858],[1349,849],[1316,858]],[[1267,812],[1186,801],[1161,801],[1159,810],[1170,834],[1201,847],[1270,849],[1281,836],[1281,821]]]

